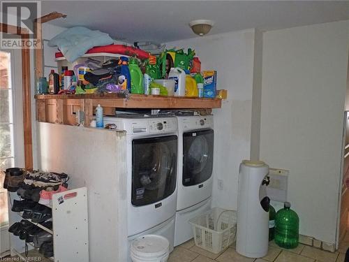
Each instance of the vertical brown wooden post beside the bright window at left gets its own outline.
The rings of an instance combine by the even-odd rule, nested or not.
[[[29,36],[22,35],[22,41],[29,41]],[[28,48],[22,48],[22,83],[23,83],[23,128],[25,168],[33,169],[33,138],[31,135],[31,92],[30,92],[30,54]]]

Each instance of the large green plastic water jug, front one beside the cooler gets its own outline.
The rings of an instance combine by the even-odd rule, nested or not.
[[[286,249],[297,247],[299,242],[299,217],[290,208],[291,204],[285,202],[275,217],[275,242]]]

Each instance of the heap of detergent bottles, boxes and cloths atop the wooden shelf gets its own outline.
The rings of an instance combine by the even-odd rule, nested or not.
[[[52,70],[47,76],[48,83],[45,77],[39,78],[36,94],[66,94],[71,97],[77,94],[117,93],[121,95],[117,97],[125,99],[129,99],[130,94],[226,98],[226,90],[216,91],[217,72],[201,72],[200,59],[195,57],[195,51],[191,48],[187,52],[183,49],[163,50],[156,55],[133,46],[110,45],[110,39],[105,33],[88,29],[87,36],[101,34],[105,41],[91,41],[86,45],[88,41],[85,39],[80,50],[75,50],[76,45],[66,43],[68,37],[74,41],[71,38],[77,30],[73,29],[67,29],[50,41],[50,46],[57,46],[61,51],[55,55],[60,72]],[[107,45],[96,46],[101,43]],[[104,54],[104,61],[98,56],[101,53]],[[82,59],[83,54],[89,54],[90,57]],[[93,54],[96,57],[91,57]]]

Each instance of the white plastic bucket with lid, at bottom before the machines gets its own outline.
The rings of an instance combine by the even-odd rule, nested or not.
[[[166,262],[170,255],[170,242],[161,235],[143,235],[131,244],[133,262]]]

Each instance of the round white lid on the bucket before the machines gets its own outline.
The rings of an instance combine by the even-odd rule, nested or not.
[[[144,235],[133,240],[131,252],[143,257],[163,256],[169,251],[170,242],[161,235]]]

